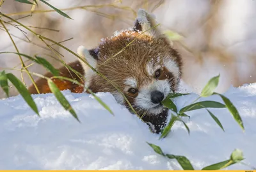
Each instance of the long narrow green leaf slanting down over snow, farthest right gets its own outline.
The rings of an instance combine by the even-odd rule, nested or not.
[[[241,129],[244,131],[244,125],[243,125],[242,118],[239,115],[236,107],[232,104],[232,102],[227,97],[225,97],[224,95],[221,95],[219,93],[214,93],[214,94],[220,95],[220,97],[222,98],[223,102],[226,104],[226,107],[228,108],[228,111],[230,111],[230,113],[232,114],[234,119],[237,121],[237,123],[239,124]]]

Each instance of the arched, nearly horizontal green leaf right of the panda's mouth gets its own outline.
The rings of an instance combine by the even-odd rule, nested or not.
[[[224,104],[221,104],[220,102],[214,102],[214,101],[202,101],[202,102],[196,102],[195,104],[190,104],[189,106],[183,107],[180,109],[180,114],[188,111],[193,111],[196,109],[202,109],[202,108],[224,108],[226,107]]]

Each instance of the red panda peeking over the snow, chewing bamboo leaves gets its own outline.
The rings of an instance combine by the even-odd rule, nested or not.
[[[152,14],[139,10],[133,28],[120,31],[111,38],[102,39],[94,49],[87,50],[80,46],[77,54],[100,74],[114,82],[136,112],[140,116],[145,114],[143,121],[153,127],[154,132],[159,133],[166,124],[168,116],[161,101],[170,92],[177,90],[182,61],[179,53],[173,49],[168,38],[156,25]],[[132,43],[128,45],[131,41]],[[121,50],[123,51],[120,52]],[[86,88],[94,93],[110,92],[118,103],[129,109],[122,94],[83,61],[79,59],[70,66],[84,75]],[[73,77],[79,81],[76,74],[68,72],[65,66],[60,68],[60,72],[65,77]],[[46,76],[51,77],[51,74]],[[60,90],[68,89],[74,93],[81,93],[84,90],[72,82],[59,79],[55,79],[54,82]],[[51,92],[45,79],[39,79],[36,85],[40,93]],[[29,92],[35,94],[35,87],[31,86]]]

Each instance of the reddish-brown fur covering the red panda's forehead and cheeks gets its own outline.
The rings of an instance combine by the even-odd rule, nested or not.
[[[134,77],[138,82],[138,89],[148,82],[152,82],[154,77],[148,75],[146,65],[148,61],[163,65],[164,57],[170,57],[180,66],[181,61],[179,54],[170,47],[165,38],[152,38],[148,35],[140,35],[135,31],[125,31],[119,36],[106,39],[104,43],[99,45],[98,66],[97,70],[108,77],[109,80],[115,82],[121,91],[125,90],[125,79]],[[134,40],[135,39],[135,40]],[[131,45],[124,47],[130,43]],[[124,49],[120,54],[114,56],[117,52]],[[161,61],[157,62],[157,57]],[[111,58],[111,59],[109,59]],[[107,61],[105,63],[105,61]],[[104,63],[102,65],[102,63]],[[173,75],[164,68],[163,74],[159,79],[172,79]],[[113,92],[116,89],[100,76],[95,75],[91,81],[90,89],[93,92]],[[136,95],[131,95],[124,91],[127,99],[132,103]]]

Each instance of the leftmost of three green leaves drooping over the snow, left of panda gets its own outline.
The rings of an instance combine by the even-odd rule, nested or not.
[[[27,90],[26,86],[24,86],[24,84],[19,79],[17,79],[17,77],[15,77],[15,75],[13,75],[13,74],[6,74],[6,75],[9,79],[9,81],[12,82],[13,86],[15,86],[15,88],[17,88],[20,95],[27,102],[28,106],[31,107],[31,109],[33,109],[33,111],[35,111],[35,113],[38,114],[38,116],[39,116],[36,104],[35,104],[33,98],[31,97],[29,91]]]

